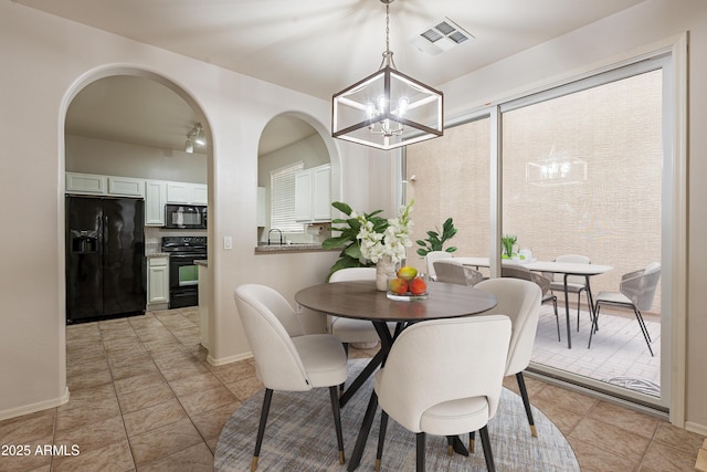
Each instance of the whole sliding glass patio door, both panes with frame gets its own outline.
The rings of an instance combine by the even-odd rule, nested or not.
[[[653,263],[669,268],[668,66],[669,55],[653,57],[506,102],[447,125],[443,138],[408,148],[401,178],[407,198],[415,200],[413,238],[426,238],[453,217],[458,233],[447,247],[458,248],[455,255],[489,258],[488,276],[500,272],[504,234],[516,237],[516,252],[529,251],[524,254],[534,260],[584,255],[612,268],[590,279],[594,297],[620,293],[627,273]],[[412,262],[424,271],[422,258]],[[605,306],[589,347],[592,307],[582,291],[578,315],[578,296],[570,294],[571,349],[564,295],[556,291],[559,319],[552,304],[544,305],[531,368],[667,407],[668,369],[661,367],[669,356],[666,279],[641,310],[650,339],[633,311]]]

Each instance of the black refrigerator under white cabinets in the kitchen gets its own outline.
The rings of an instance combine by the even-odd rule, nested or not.
[[[145,201],[66,197],[66,323],[145,313]]]

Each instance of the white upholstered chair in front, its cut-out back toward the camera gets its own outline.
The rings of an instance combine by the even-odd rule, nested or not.
[[[388,417],[416,433],[416,470],[425,470],[426,434],[479,430],[489,471],[494,459],[488,420],[497,411],[508,355],[507,316],[468,316],[413,324],[393,343],[376,373],[381,407],[376,470],[380,470]],[[483,353],[483,363],[469,363]]]

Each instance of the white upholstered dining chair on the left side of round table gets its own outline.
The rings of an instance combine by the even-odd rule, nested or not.
[[[329,388],[339,462],[344,463],[337,386],[344,384],[348,369],[341,343],[328,334],[305,334],[289,303],[268,286],[239,286],[235,305],[255,359],[257,378],[265,386],[251,470],[257,468],[273,391],[307,391],[318,387]]]

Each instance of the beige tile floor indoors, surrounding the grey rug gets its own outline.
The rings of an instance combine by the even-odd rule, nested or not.
[[[198,322],[196,310],[182,308],[68,327],[71,400],[0,421],[0,444],[32,451],[0,455],[0,470],[212,470],[223,424],[262,386],[251,361],[209,365]],[[351,356],[373,352],[351,349]],[[516,390],[515,379],[506,386]],[[698,434],[540,380],[529,378],[527,386],[532,403],[567,436],[582,471],[694,468],[704,441]],[[80,453],[42,455],[38,445]]]

